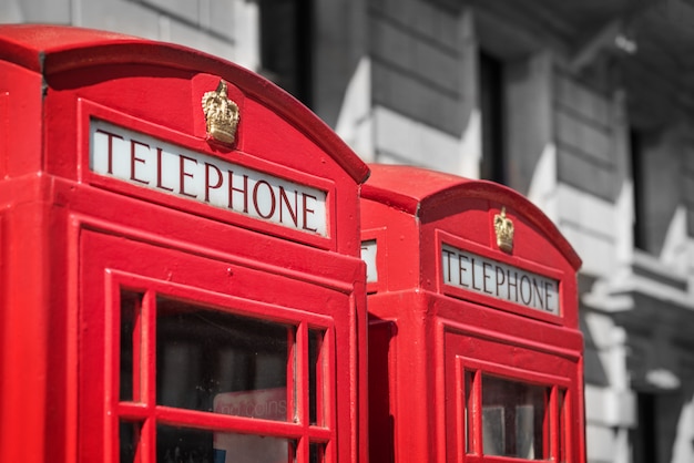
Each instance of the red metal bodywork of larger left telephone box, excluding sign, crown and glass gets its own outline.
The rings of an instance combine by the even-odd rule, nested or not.
[[[242,110],[231,147],[207,140],[200,110],[202,93],[220,79]],[[328,236],[98,177],[88,164],[92,116],[326,191]],[[114,416],[141,412],[113,400],[113,285],[123,278],[292,320],[299,333],[324,327],[334,361],[326,429],[302,416],[298,424],[251,423],[145,404],[147,413],[329,440],[326,461],[367,460],[357,197],[368,167],[327,125],[272,83],[204,53],[22,24],[0,27],[0,460],[115,459]],[[306,349],[303,338],[296,349]],[[304,370],[299,362],[298,385]]]

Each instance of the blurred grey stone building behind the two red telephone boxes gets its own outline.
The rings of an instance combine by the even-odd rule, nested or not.
[[[694,461],[693,0],[0,0],[0,22],[200,49],[365,161],[527,195],[583,258],[589,461]]]

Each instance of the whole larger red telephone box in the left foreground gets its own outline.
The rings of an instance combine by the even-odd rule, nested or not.
[[[367,175],[232,63],[1,27],[0,460],[366,461]]]

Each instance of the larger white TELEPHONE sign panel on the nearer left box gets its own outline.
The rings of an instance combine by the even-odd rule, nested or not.
[[[328,233],[324,191],[99,120],[90,123],[90,169],[297,230]]]

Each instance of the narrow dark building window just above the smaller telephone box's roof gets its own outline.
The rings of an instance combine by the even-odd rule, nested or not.
[[[479,105],[482,120],[480,178],[506,184],[503,63],[479,54]]]

